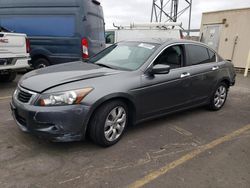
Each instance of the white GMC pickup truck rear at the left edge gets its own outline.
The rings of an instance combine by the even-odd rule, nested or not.
[[[11,82],[17,70],[29,68],[29,51],[25,34],[10,33],[0,26],[0,81]]]

